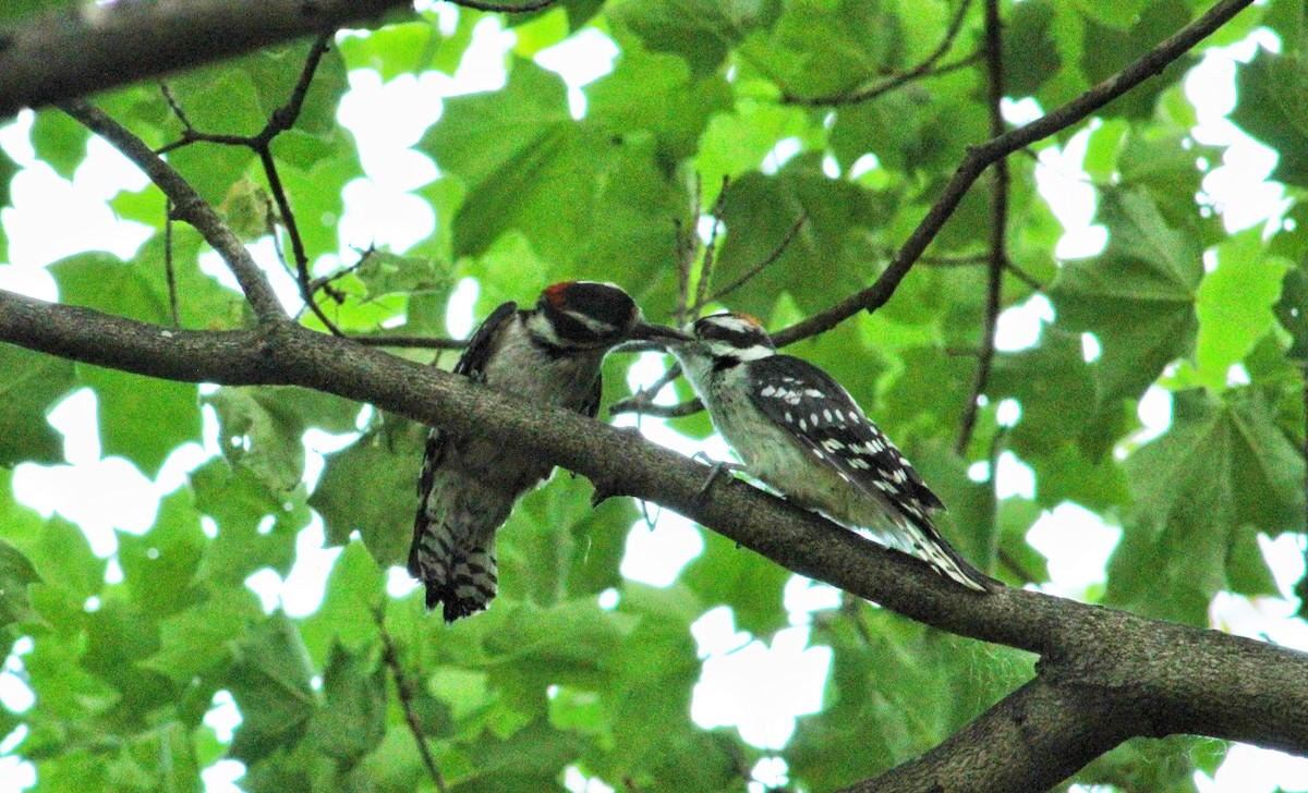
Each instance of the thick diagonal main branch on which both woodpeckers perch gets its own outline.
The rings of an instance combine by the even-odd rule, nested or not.
[[[293,384],[373,404],[453,432],[480,432],[535,449],[555,462],[675,510],[802,575],[876,601],[920,622],[1040,653],[1040,685],[951,738],[976,763],[1007,762],[1036,747],[1027,781],[972,790],[1039,789],[1071,767],[1042,747],[1071,751],[1062,721],[1023,721],[988,732],[1007,712],[1056,696],[1070,716],[1109,709],[1112,733],[1073,754],[1078,762],[1130,736],[1197,733],[1308,754],[1308,655],[1273,644],[1137,617],[1039,592],[1003,588],[974,594],[925,564],[768,495],[721,477],[701,494],[704,466],[630,432],[545,409],[395,358],[349,340],[281,324],[276,332],[194,332],[43,303],[0,291],[0,340],[75,361],[156,378],[220,384]],[[1015,703],[1015,704],[1012,704]],[[1042,707],[1042,705],[1041,705]],[[1062,719],[1062,717],[1061,717]],[[1052,734],[1058,733],[1058,734]],[[1007,747],[984,751],[981,743]],[[1110,739],[1110,741],[1109,741]],[[1014,743],[1020,741],[1020,743]],[[1079,743],[1078,743],[1079,745]],[[947,745],[951,746],[951,745]],[[938,750],[943,760],[956,750]],[[934,762],[929,755],[922,762]],[[977,779],[999,771],[969,766]],[[1012,784],[1008,784],[1012,781]],[[914,788],[896,788],[914,789]]]

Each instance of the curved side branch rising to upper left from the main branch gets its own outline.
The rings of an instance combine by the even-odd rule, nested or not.
[[[277,295],[272,291],[272,285],[268,283],[268,278],[250,256],[250,251],[181,174],[152,152],[141,138],[99,108],[86,102],[69,102],[63,106],[63,110],[88,129],[107,140],[164,191],[164,195],[173,201],[173,216],[195,226],[204,242],[209,243],[222,257],[222,261],[232,268],[232,273],[241,283],[246,300],[250,302],[250,307],[254,308],[260,323],[286,321],[286,312],[283,311]]]

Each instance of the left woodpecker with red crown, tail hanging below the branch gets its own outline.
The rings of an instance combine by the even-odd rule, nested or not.
[[[629,340],[684,340],[651,325],[612,283],[565,281],[535,308],[496,308],[468,342],[454,372],[542,405],[594,417],[600,363]],[[426,607],[445,604],[446,622],[485,609],[496,594],[496,530],[518,499],[553,465],[528,449],[432,429],[417,482],[408,571],[426,587]]]

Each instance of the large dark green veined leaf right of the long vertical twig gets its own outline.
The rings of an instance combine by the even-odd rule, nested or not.
[[[1141,191],[1105,193],[1100,218],[1108,247],[1063,265],[1049,294],[1059,327],[1099,338],[1100,400],[1135,398],[1193,349],[1203,264],[1194,243],[1168,227]]]

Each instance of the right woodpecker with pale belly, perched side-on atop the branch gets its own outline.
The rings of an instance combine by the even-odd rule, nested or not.
[[[831,375],[778,354],[752,316],[715,314],[687,329],[691,340],[666,346],[751,476],[968,589],[993,585],[940,537],[931,513],[944,504]]]

